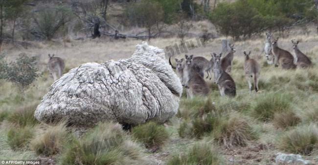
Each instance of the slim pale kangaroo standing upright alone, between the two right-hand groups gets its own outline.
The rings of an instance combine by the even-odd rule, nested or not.
[[[255,92],[258,91],[258,80],[259,80],[259,74],[260,74],[260,66],[258,62],[254,59],[250,59],[250,52],[247,54],[244,51],[245,55],[245,62],[244,62],[244,71],[245,71],[245,78],[249,83],[249,89],[250,92],[252,91],[252,83],[251,83],[251,78],[254,79],[254,89]]]

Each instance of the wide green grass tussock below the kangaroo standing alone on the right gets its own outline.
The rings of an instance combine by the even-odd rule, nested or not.
[[[272,120],[276,112],[289,111],[291,101],[291,96],[287,94],[268,93],[260,95],[251,106],[251,116],[261,121]]]

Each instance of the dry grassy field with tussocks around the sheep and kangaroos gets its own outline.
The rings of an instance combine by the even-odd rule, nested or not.
[[[318,36],[298,31],[291,34],[295,35],[280,39],[279,46],[294,53],[291,40],[299,40],[298,47],[312,59],[313,68],[287,71],[268,65],[261,55],[265,37],[237,41],[231,72],[237,88],[235,98],[220,97],[217,86],[207,80],[209,96],[187,100],[184,95],[178,114],[164,126],[145,124],[125,132],[118,124],[99,124],[81,138],[77,138],[78,130],[63,123],[45,125],[33,118],[53,83],[46,70],[47,54],[65,59],[67,72],[85,62],[128,58],[141,41],[34,42],[28,49],[7,45],[3,52],[8,61],[20,53],[37,55],[41,77],[23,94],[10,82],[0,81],[0,160],[42,159],[63,165],[75,161],[96,165],[272,165],[275,154],[285,152],[299,153],[317,164]],[[197,48],[195,44],[175,57],[194,54],[210,59],[210,53],[221,51],[223,39]],[[179,39],[159,38],[149,44],[164,49],[179,44]],[[244,77],[244,51],[252,51],[251,57],[261,65],[257,94],[249,93]],[[147,130],[154,131],[142,133]]]

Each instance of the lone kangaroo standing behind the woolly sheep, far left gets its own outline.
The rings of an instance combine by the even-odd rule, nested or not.
[[[62,76],[63,70],[65,68],[64,60],[59,57],[54,57],[54,54],[51,56],[48,54],[48,57],[50,58],[47,63],[47,69],[49,73],[53,76],[54,81],[57,80],[57,78]]]

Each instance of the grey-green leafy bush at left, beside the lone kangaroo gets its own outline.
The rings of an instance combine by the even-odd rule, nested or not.
[[[7,79],[16,84],[21,91],[39,76],[35,67],[36,57],[27,57],[20,54],[15,62],[11,62],[7,68]]]

